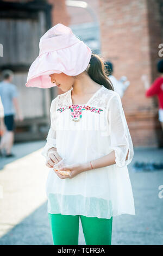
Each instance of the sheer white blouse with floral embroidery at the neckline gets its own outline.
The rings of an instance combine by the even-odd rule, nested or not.
[[[74,164],[114,150],[116,163],[86,170],[72,179],[60,179],[49,168],[48,212],[98,218],[135,215],[127,168],[134,150],[120,96],[102,85],[86,104],[73,105],[71,91],[51,103],[51,127],[41,154],[47,157],[48,149],[55,147],[67,164]]]

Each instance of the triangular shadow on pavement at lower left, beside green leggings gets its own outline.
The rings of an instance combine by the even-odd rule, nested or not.
[[[47,202],[2,236],[0,245],[53,245]]]

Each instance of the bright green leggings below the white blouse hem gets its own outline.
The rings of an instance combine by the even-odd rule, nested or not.
[[[54,245],[78,245],[79,217],[86,245],[111,245],[112,217],[106,219],[49,213],[48,217]]]

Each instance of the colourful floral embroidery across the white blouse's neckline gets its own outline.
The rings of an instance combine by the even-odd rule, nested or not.
[[[83,105],[73,105],[73,104],[67,107],[58,108],[57,111],[63,112],[65,109],[70,109],[71,117],[74,122],[80,121],[80,118],[82,118],[82,112],[84,110],[91,111],[98,114],[100,114],[101,111],[103,111],[103,109],[101,108],[90,107],[88,105],[83,106]]]

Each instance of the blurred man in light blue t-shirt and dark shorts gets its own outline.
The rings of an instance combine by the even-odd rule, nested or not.
[[[4,108],[4,130],[1,137],[0,150],[5,157],[14,156],[11,153],[12,145],[14,144],[14,129],[15,129],[15,114],[22,121],[22,114],[18,105],[18,90],[15,84],[12,84],[14,73],[11,70],[2,71],[2,81],[0,82],[0,96]],[[15,112],[16,109],[16,112]]]

